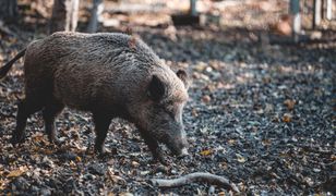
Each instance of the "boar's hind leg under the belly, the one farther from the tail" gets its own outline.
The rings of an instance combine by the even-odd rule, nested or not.
[[[45,120],[45,130],[50,143],[58,143],[55,127],[55,119],[63,110],[64,105],[59,101],[49,102],[43,111]]]

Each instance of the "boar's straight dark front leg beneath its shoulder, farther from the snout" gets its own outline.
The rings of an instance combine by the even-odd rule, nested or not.
[[[104,142],[107,135],[108,127],[111,122],[111,118],[108,118],[104,114],[95,114],[93,115],[95,123],[95,132],[96,132],[96,140],[95,140],[95,151],[104,155]]]

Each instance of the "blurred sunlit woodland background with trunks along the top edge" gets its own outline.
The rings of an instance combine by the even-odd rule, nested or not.
[[[334,28],[335,4],[332,0],[0,0],[0,24],[23,21],[45,33],[119,30],[139,24],[253,27],[280,37],[293,35],[299,41]]]

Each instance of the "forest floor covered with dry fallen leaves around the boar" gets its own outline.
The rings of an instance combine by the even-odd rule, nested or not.
[[[22,23],[10,26],[14,35],[1,35],[1,64],[32,37],[46,36]],[[24,96],[21,60],[0,83],[1,195],[230,194],[204,183],[160,189],[148,182],[192,172],[226,176],[242,195],[336,193],[335,32],[323,32],[328,41],[271,45],[261,39],[267,32],[244,27],[134,29],[167,64],[191,74],[183,113],[190,157],[167,150],[168,166],[152,163],[136,128],[115,120],[105,145],[110,154],[99,158],[92,150],[91,114],[70,109],[57,121],[61,146],[48,143],[36,113],[26,142],[14,148],[10,134]]]

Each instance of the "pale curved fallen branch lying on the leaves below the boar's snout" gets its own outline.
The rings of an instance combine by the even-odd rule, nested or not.
[[[225,188],[232,189],[235,192],[239,192],[238,187],[230,183],[230,181],[224,176],[214,175],[211,173],[203,173],[203,172],[195,172],[190,173],[184,176],[178,177],[178,179],[170,179],[170,180],[164,180],[164,179],[152,179],[151,183],[158,187],[178,187],[183,186],[189,183],[194,182],[205,182],[208,184],[215,184],[218,186],[223,186]]]

